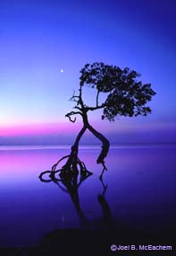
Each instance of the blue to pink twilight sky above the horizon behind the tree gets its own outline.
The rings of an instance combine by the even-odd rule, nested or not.
[[[172,0],[1,0],[0,145],[70,144],[81,123],[64,117],[68,100],[95,61],[135,69],[157,93],[146,118],[109,123],[94,112],[95,128],[117,144],[176,142],[175,9]]]

